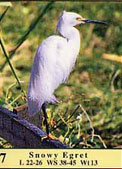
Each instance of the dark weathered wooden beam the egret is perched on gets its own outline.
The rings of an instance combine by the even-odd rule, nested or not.
[[[43,139],[46,134],[41,129],[2,106],[0,137],[15,148],[69,148],[58,140]]]

